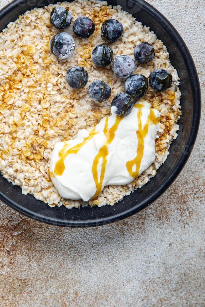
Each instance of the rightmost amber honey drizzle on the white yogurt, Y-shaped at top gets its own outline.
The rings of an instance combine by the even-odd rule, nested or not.
[[[153,123],[156,125],[157,122],[159,122],[160,117],[155,117],[155,113],[153,109],[150,108],[150,115],[147,118],[147,122],[142,128],[142,104],[135,104],[135,108],[138,108],[137,113],[137,120],[138,120],[138,130],[136,131],[138,144],[137,144],[137,154],[136,157],[126,163],[127,170],[129,172],[129,175],[133,178],[136,178],[139,176],[139,169],[142,161],[142,157],[144,154],[144,138],[146,137],[149,129],[150,123]],[[133,171],[133,166],[136,165],[136,170]]]

